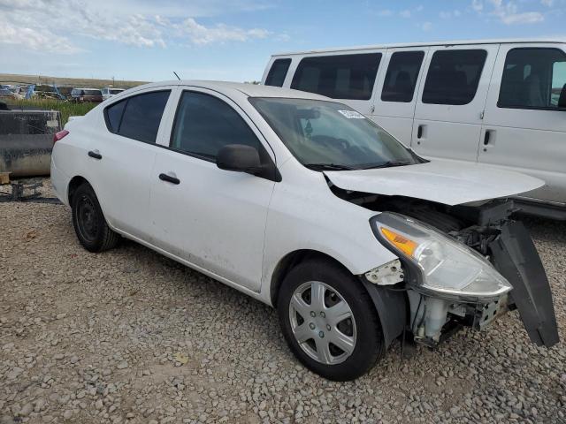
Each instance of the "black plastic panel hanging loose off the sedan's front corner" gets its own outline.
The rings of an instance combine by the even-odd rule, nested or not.
[[[555,307],[547,273],[523,223],[501,226],[501,235],[489,245],[493,266],[513,286],[510,303],[519,310],[532,343],[551,347],[558,343]]]

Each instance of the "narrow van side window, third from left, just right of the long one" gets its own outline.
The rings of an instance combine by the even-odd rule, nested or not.
[[[384,102],[412,102],[424,51],[397,51],[391,55],[383,83]]]

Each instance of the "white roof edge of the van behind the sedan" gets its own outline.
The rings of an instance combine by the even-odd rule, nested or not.
[[[404,42],[394,44],[371,44],[367,46],[355,47],[336,47],[328,49],[312,49],[302,51],[290,51],[276,53],[272,57],[294,56],[294,55],[310,55],[313,53],[331,53],[331,52],[348,52],[353,50],[371,50],[371,49],[396,49],[407,47],[428,47],[428,46],[465,46],[469,44],[509,44],[509,43],[561,43],[566,42],[566,38],[532,38],[532,39],[493,39],[493,40],[455,40],[455,41],[439,41],[439,42]]]

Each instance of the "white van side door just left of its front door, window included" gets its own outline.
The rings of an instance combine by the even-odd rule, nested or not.
[[[497,44],[432,46],[411,147],[424,157],[476,162]]]

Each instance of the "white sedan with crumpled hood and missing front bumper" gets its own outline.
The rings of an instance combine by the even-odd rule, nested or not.
[[[54,140],[51,180],[82,246],[133,239],[277,307],[291,350],[326,378],[515,308],[534,343],[558,341],[504,199],[539,179],[428,162],[345,104],[249,84],[136,87]]]

